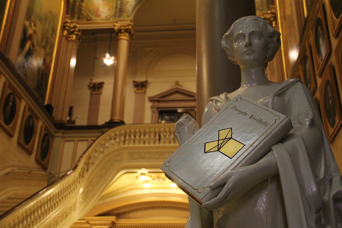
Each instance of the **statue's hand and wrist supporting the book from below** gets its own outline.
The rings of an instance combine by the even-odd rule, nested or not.
[[[224,185],[220,194],[214,199],[202,204],[209,210],[218,209],[236,199],[262,180],[278,174],[273,152],[253,165],[236,168],[218,178],[209,187],[211,189]]]

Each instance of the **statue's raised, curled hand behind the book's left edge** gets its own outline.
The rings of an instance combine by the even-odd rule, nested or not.
[[[176,122],[174,126],[174,137],[179,145],[182,145],[199,129],[197,121],[188,114],[183,116]]]

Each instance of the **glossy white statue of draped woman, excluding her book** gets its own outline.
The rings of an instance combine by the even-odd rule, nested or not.
[[[342,227],[341,174],[310,91],[298,79],[276,83],[265,75],[279,37],[261,17],[232,25],[222,47],[241,68],[241,86],[210,98],[202,123],[241,94],[289,117],[293,130],[257,163],[214,182],[210,188],[224,188],[213,200],[200,206],[189,198],[187,228]],[[176,123],[176,138],[182,144],[197,129],[185,115]]]

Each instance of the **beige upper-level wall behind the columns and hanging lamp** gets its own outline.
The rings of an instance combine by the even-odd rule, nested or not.
[[[148,80],[145,93],[144,123],[151,122],[151,103],[149,96],[169,90],[175,81],[184,89],[196,92],[196,46],[195,31],[186,38],[175,38],[168,36],[159,37],[156,35],[151,39],[139,38],[139,33],[130,42],[129,63],[126,82],[126,98],[124,122],[133,123],[134,109],[134,86],[133,80]],[[111,44],[111,54],[116,50],[116,38]],[[77,117],[77,125],[87,123],[90,91],[88,83],[90,78],[95,82],[104,82],[101,95],[98,124],[103,124],[110,119],[111,98],[113,93],[115,66],[106,66],[102,59],[108,51],[109,34],[102,36],[85,36],[81,42],[76,63],[75,80],[71,105],[74,106],[74,118]],[[94,56],[95,55],[95,56]],[[81,65],[80,65],[80,64]]]

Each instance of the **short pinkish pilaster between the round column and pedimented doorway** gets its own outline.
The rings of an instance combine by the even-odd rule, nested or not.
[[[133,86],[135,93],[133,123],[144,123],[145,92],[147,87],[147,80],[133,81]]]

